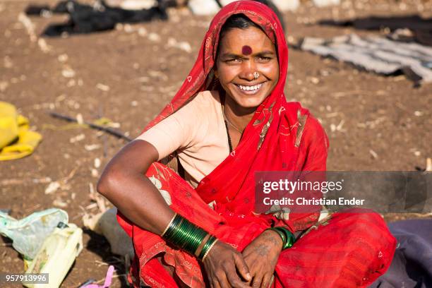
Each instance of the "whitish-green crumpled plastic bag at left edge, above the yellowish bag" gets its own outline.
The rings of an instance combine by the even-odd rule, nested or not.
[[[57,208],[35,212],[21,220],[0,211],[0,234],[12,239],[13,248],[31,260],[59,222],[68,223],[68,213]]]

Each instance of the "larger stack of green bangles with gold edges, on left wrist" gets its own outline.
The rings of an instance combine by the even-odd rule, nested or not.
[[[161,235],[166,241],[177,246],[191,255],[197,256],[198,248],[206,239],[203,248],[198,254],[198,259],[204,260],[210,249],[215,245],[217,238],[205,232],[204,229],[189,222],[177,213],[169,222]]]

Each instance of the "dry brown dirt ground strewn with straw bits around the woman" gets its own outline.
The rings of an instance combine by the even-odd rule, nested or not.
[[[90,128],[64,127],[66,122],[47,112],[80,114],[88,121],[104,116],[120,124],[127,135],[138,136],[180,87],[210,17],[172,9],[166,22],[45,39],[44,47],[37,41],[40,32],[65,17],[30,18],[32,36],[19,20],[29,3],[0,0],[0,100],[15,104],[28,116],[43,141],[30,157],[0,163],[0,208],[10,208],[11,215],[20,218],[59,207],[68,212],[71,222],[83,227],[84,212],[97,212],[90,186],[95,187],[104,165],[126,142]],[[345,0],[340,6],[321,9],[305,1],[299,11],[284,17],[287,36],[295,40],[354,32],[322,27],[314,24],[317,20],[411,13],[430,17],[432,1]],[[169,47],[169,38],[188,42],[191,51]],[[410,171],[424,168],[426,157],[432,156],[432,85],[414,88],[404,76],[378,76],[291,49],[285,92],[289,100],[300,101],[322,121],[330,138],[329,170]],[[45,194],[49,181],[66,183]],[[414,215],[395,215],[390,220],[406,217]],[[107,241],[87,230],[83,240],[85,248],[63,287],[77,287],[88,278],[103,279],[108,263],[119,268],[114,287],[120,287],[124,271],[109,253]],[[0,268],[23,271],[23,260],[6,239],[0,240]]]

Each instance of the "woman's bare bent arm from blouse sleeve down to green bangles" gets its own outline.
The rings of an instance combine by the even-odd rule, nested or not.
[[[128,143],[105,167],[97,191],[138,226],[162,234],[174,211],[145,176],[158,157],[155,147],[145,140]]]

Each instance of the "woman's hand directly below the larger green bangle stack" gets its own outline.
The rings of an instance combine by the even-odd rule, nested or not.
[[[212,288],[246,288],[252,279],[241,253],[221,241],[211,248],[204,268]]]

